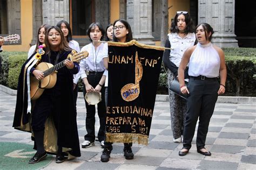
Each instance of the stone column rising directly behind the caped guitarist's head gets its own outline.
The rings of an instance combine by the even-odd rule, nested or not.
[[[42,0],[43,24],[56,25],[60,20],[69,22],[69,0]]]

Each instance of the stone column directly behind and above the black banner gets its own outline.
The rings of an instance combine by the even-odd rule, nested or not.
[[[143,44],[154,45],[151,0],[127,0],[126,9],[126,19],[131,25],[133,38]]]

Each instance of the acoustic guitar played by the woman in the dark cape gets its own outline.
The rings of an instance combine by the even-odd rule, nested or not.
[[[68,56],[68,59],[73,62],[78,62],[89,55],[87,51],[83,51],[71,56]],[[37,80],[35,76],[30,76],[30,98],[31,100],[37,100],[43,92],[44,89],[51,89],[55,86],[57,81],[57,70],[64,67],[64,61],[52,65],[48,62],[41,62],[35,69],[42,70],[44,74],[44,79]]]

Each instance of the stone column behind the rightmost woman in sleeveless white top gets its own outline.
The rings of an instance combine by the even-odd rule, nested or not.
[[[198,24],[213,27],[212,42],[219,47],[238,47],[234,34],[235,0],[198,0]]]

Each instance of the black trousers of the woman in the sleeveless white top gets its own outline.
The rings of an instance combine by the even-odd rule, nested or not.
[[[205,146],[208,126],[218,98],[219,82],[217,78],[207,80],[190,78],[187,88],[190,94],[187,97],[183,147],[188,150],[191,148],[191,142],[199,117],[196,144],[200,150]]]

